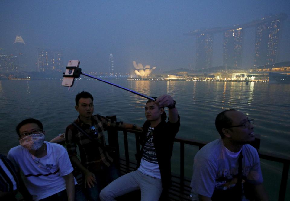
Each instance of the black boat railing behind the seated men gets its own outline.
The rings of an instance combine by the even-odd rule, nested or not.
[[[119,129],[119,131],[123,132],[124,136],[124,152],[125,152],[125,159],[121,158],[121,161],[125,162],[124,167],[126,167],[125,172],[132,170],[136,168],[136,162],[130,161],[129,158],[129,145],[128,145],[128,133],[135,135],[136,140],[136,153],[140,151],[140,145],[139,145],[139,134],[140,131],[137,130],[131,130],[131,129]],[[108,141],[110,146],[116,145],[116,142],[118,142],[118,131],[114,130],[115,135],[114,139],[112,138],[112,135],[110,133],[111,131],[108,131]],[[111,136],[111,137],[109,137]],[[190,193],[190,179],[184,177],[184,155],[185,155],[185,145],[193,145],[198,146],[199,149],[201,149],[204,145],[206,145],[208,142],[205,141],[198,141],[198,140],[189,140],[189,139],[182,139],[182,138],[175,138],[174,142],[177,142],[180,144],[180,173],[179,175],[172,174],[172,187],[171,187],[171,195],[169,196],[173,200],[191,200],[189,197]],[[259,145],[258,145],[259,146]],[[119,150],[119,144],[115,147],[118,147],[117,154],[120,157],[120,150]],[[257,147],[256,147],[257,148]],[[258,148],[257,148],[258,149]],[[289,166],[290,166],[290,158],[281,156],[281,155],[273,155],[269,153],[264,153],[259,151],[259,157],[261,159],[269,160],[269,161],[275,161],[283,164],[283,171],[282,171],[282,178],[280,183],[280,189],[279,189],[279,200],[285,200],[285,194],[286,194],[286,187],[287,187],[287,181],[288,181],[288,173],[289,173]],[[131,166],[131,167],[130,167]],[[135,166],[135,167],[132,167]],[[169,189],[170,191],[170,189]],[[170,192],[169,192],[170,194]],[[177,195],[178,194],[178,195]]]

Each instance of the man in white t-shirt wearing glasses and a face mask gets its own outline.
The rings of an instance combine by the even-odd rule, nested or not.
[[[59,144],[44,142],[45,131],[39,120],[23,120],[16,132],[20,145],[10,149],[8,159],[17,171],[23,172],[33,200],[85,200],[72,175],[66,149]]]

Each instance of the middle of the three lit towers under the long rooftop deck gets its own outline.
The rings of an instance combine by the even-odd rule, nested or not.
[[[224,32],[224,65],[242,67],[243,29],[235,28]]]

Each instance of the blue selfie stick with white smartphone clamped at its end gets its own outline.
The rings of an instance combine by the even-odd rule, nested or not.
[[[107,83],[107,84],[109,84],[109,85],[113,85],[113,86],[115,86],[115,87],[118,87],[118,88],[124,89],[124,90],[126,90],[126,91],[129,91],[129,92],[131,92],[131,93],[133,93],[133,94],[136,94],[136,95],[138,95],[138,96],[141,96],[141,97],[143,97],[143,98],[147,98],[148,100],[155,101],[154,98],[149,97],[149,96],[146,96],[146,95],[144,95],[144,94],[141,94],[141,93],[139,93],[139,92],[137,92],[137,91],[133,91],[133,90],[131,90],[131,89],[127,89],[127,88],[125,88],[125,87],[122,87],[122,86],[116,85],[116,84],[114,84],[114,83],[111,83],[111,82],[108,82],[108,81],[102,80],[102,79],[100,79],[100,78],[94,77],[94,76],[89,75],[89,74],[83,73],[83,72],[82,72],[82,69],[79,68],[79,64],[80,64],[79,60],[69,60],[68,65],[67,65],[67,67],[66,67],[66,72],[63,73],[63,74],[64,74],[64,75],[63,75],[63,82],[62,82],[62,85],[63,85],[63,86],[65,86],[65,87],[71,87],[71,86],[73,85],[74,79],[75,79],[75,78],[79,78],[80,75],[82,74],[82,75],[85,75],[85,76],[87,76],[87,77],[93,78],[93,79],[95,79],[95,80],[105,82],[105,83]]]

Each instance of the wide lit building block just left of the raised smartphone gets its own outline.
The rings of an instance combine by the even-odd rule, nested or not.
[[[39,72],[61,72],[63,70],[62,51],[52,51],[38,48]]]

